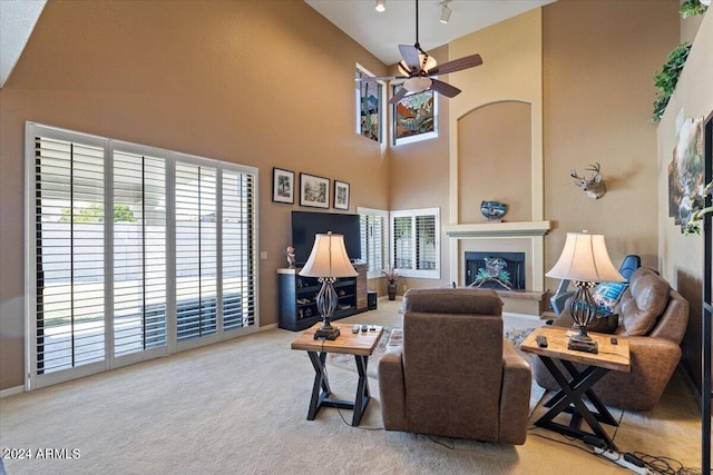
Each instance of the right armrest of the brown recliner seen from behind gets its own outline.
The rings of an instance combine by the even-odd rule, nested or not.
[[[507,444],[525,444],[529,418],[533,370],[512,344],[502,340],[502,389],[500,394],[499,439]]]

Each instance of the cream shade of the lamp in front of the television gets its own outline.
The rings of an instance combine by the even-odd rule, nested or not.
[[[354,277],[356,270],[349,261],[349,255],[344,247],[344,236],[325,235],[314,236],[314,246],[306,264],[300,270],[305,277]]]

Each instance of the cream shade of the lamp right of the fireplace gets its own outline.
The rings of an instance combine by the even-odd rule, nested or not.
[[[609,259],[604,236],[588,232],[567,232],[561,256],[546,276],[582,283],[626,281]]]

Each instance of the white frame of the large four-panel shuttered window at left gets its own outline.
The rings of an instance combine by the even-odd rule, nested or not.
[[[166,228],[167,228],[167,256],[166,256],[166,286],[167,297],[166,305],[168,307],[168,321],[167,321],[167,344],[165,347],[158,349],[150,349],[144,354],[130,354],[129,356],[115,357],[114,346],[114,220],[105,219],[104,226],[104,359],[96,363],[89,363],[86,365],[70,366],[68,368],[59,369],[52,373],[42,374],[38,372],[37,363],[37,243],[33,238],[36,234],[36,157],[35,157],[35,142],[36,137],[45,137],[48,139],[58,139],[62,141],[75,142],[77,145],[90,145],[104,149],[104,188],[105,188],[105,209],[113,209],[113,152],[114,150],[130,151],[153,157],[165,158],[166,162]],[[90,374],[100,373],[104,370],[114,369],[126,364],[133,364],[138,360],[150,359],[158,356],[165,356],[173,353],[189,349],[196,346],[203,346],[217,340],[224,340],[228,338],[238,337],[245,334],[257,331],[260,328],[260,305],[258,305],[258,283],[260,283],[260,249],[258,249],[258,169],[256,167],[248,167],[236,165],[232,162],[223,162],[203,157],[189,156],[170,150],[159,149],[155,147],[148,147],[137,144],[128,144],[110,138],[91,136],[72,130],[60,129],[51,126],[43,126],[35,122],[26,123],[26,206],[25,206],[25,225],[26,235],[30,238],[26,239],[25,250],[25,266],[26,266],[26,389],[35,389],[42,386],[48,386],[65,380],[75,379],[77,377],[87,376]],[[218,175],[223,172],[237,172],[247,174],[252,178],[252,216],[251,232],[250,232],[250,256],[252,256],[252,283],[254,289],[252,290],[252,315],[254,318],[246,327],[225,329],[223,328],[222,314],[218,317],[218,330],[217,335],[196,338],[188,343],[177,343],[175,330],[175,269],[176,269],[176,256],[175,256],[175,220],[173,218],[173,211],[175,211],[175,164],[183,162],[196,162],[204,164],[208,167],[215,167]],[[218,194],[219,204],[222,206],[222,195]],[[106,212],[105,212],[106,215]],[[222,243],[222,227],[217,227],[218,243]],[[222,265],[222,263],[219,263]],[[222,268],[221,268],[222,269]],[[222,287],[221,287],[222,288]],[[222,290],[218,293],[218,298],[222,296]],[[173,314],[172,314],[173,309]]]

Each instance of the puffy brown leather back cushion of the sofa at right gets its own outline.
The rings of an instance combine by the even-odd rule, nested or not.
[[[639,267],[616,307],[623,335],[646,335],[668,301],[671,286],[651,269]]]

